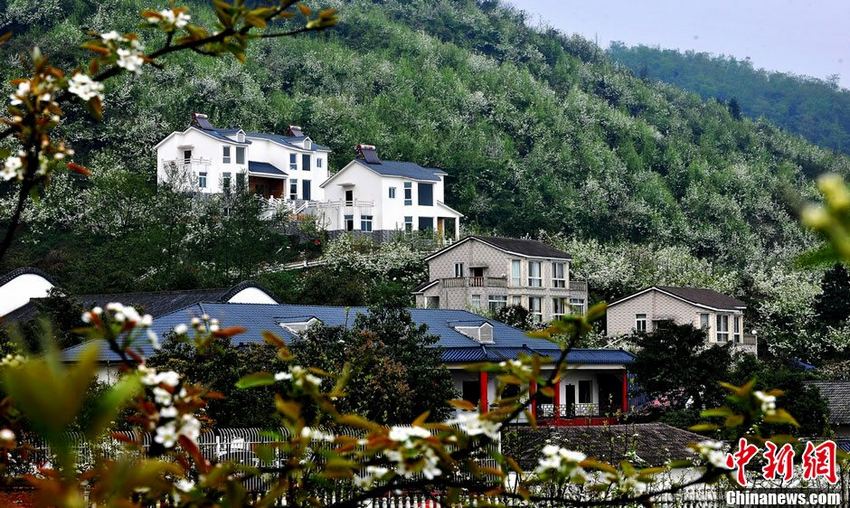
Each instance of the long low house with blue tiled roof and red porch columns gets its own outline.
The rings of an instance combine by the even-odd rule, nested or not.
[[[329,307],[320,305],[196,303],[162,315],[154,320],[153,329],[160,336],[193,317],[207,314],[223,326],[246,329],[234,337],[238,343],[262,343],[261,332],[270,330],[286,342],[314,323],[328,326],[351,326],[362,307]],[[473,314],[465,310],[410,309],[413,320],[428,326],[439,337],[443,361],[451,371],[458,394],[478,405],[483,411],[496,399],[497,383],[487,373],[468,372],[465,367],[481,362],[500,362],[521,353],[552,359],[560,350],[551,342],[529,337],[517,328]],[[143,356],[154,353],[148,343],[139,344]],[[82,345],[64,351],[66,361],[75,361]],[[107,370],[119,358],[102,350],[100,360]],[[540,400],[534,408],[541,424],[588,425],[616,421],[618,412],[628,410],[628,376],[632,354],[619,349],[576,349],[568,356],[568,371],[558,382],[554,397]],[[532,387],[533,388],[533,387]]]

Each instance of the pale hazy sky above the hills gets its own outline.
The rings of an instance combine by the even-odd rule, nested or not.
[[[850,0],[508,0],[532,25],[611,41],[749,57],[850,88]]]

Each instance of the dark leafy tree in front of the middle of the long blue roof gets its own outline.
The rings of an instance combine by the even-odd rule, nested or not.
[[[409,422],[425,411],[432,420],[449,416],[455,398],[451,375],[434,345],[437,337],[400,307],[373,307],[353,326],[313,326],[291,350],[299,361],[342,374],[346,396],[339,407],[387,423]]]

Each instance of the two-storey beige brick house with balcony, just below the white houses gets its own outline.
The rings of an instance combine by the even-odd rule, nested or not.
[[[587,283],[570,277],[570,255],[543,242],[467,236],[425,258],[416,306],[495,312],[521,305],[548,322],[587,308]]]

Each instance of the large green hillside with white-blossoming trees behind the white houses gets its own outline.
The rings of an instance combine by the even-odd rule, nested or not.
[[[211,19],[205,3],[187,3],[195,20]],[[111,83],[104,124],[80,113],[65,128],[81,162],[152,180],[152,147],[192,111],[245,129],[296,123],[334,150],[332,168],[358,142],[444,168],[447,200],[472,228],[679,245],[738,268],[777,246],[799,251],[807,236],[788,197],[812,196],[824,171],[847,172],[843,156],[634,77],[498,2],[311,3],[338,7],[340,25],[263,41],[244,65],[187,53]],[[150,4],[7,3],[17,32],[0,72],[16,76],[11,54],[33,44],[75,61],[83,28],[135,30],[133,13]]]

